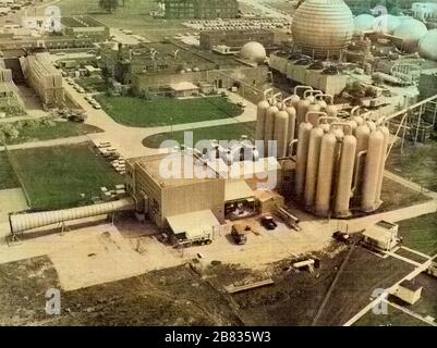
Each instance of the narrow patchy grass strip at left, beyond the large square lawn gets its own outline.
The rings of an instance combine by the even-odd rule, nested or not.
[[[20,129],[20,137],[8,139],[9,145],[23,144],[29,141],[51,140],[58,138],[75,137],[90,133],[100,133],[101,129],[92,125],[57,121],[54,126],[35,125]]]

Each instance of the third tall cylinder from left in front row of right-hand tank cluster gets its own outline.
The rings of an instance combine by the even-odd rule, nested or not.
[[[336,164],[337,138],[328,133],[321,139],[320,160],[318,164],[316,204],[317,216],[329,216],[332,195],[332,178]]]

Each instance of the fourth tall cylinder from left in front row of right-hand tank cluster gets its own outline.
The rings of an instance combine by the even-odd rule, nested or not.
[[[355,152],[356,152],[356,138],[353,135],[344,136],[341,147],[336,202],[333,207],[333,214],[337,217],[348,217],[351,213],[350,202],[352,198],[352,182],[355,166]]]

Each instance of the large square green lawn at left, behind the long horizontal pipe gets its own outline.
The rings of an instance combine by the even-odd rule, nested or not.
[[[100,187],[123,183],[90,142],[11,152],[34,210],[56,210],[92,202]],[[81,197],[85,194],[85,198]]]

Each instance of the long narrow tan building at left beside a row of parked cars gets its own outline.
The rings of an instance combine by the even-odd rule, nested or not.
[[[20,59],[23,74],[32,88],[48,108],[62,107],[64,89],[62,75],[51,64],[48,53],[37,53]]]

